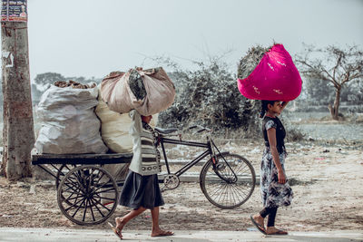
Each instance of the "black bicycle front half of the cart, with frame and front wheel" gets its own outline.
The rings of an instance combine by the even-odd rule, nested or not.
[[[200,128],[196,133],[211,132],[201,126],[192,126],[190,129]],[[250,161],[238,154],[229,151],[221,152],[209,135],[206,142],[184,141],[181,134],[175,134],[177,129],[161,129],[155,127],[156,147],[162,147],[162,155],[167,169],[163,179],[162,190],[177,189],[180,185],[179,177],[198,162],[210,156],[200,173],[200,187],[204,196],[219,208],[237,208],[245,203],[253,193],[256,184],[256,175]],[[179,136],[179,140],[168,137]],[[185,145],[201,147],[205,151],[198,157],[188,162],[175,173],[171,172],[164,144]]]

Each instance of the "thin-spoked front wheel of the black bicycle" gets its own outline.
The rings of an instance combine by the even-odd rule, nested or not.
[[[216,165],[209,160],[201,169],[200,185],[205,197],[219,208],[237,208],[255,188],[256,176],[250,161],[236,154],[220,154]]]

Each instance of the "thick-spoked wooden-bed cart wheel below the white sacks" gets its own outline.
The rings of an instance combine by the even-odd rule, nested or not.
[[[106,193],[107,197],[103,197]],[[57,201],[66,218],[79,225],[94,225],[113,214],[118,196],[116,182],[108,171],[97,166],[81,166],[70,170],[62,179]],[[103,199],[113,203],[103,204]]]

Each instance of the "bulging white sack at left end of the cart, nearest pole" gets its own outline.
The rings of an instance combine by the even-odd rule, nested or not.
[[[39,153],[105,153],[100,121],[94,113],[98,90],[51,86],[41,97],[37,116],[42,122],[35,149]]]

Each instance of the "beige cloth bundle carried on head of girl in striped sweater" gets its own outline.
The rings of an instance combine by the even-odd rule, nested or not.
[[[110,73],[101,83],[101,92],[110,110],[134,109],[144,116],[166,110],[175,98],[175,87],[162,67]]]

